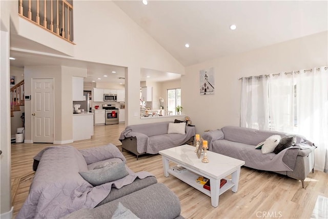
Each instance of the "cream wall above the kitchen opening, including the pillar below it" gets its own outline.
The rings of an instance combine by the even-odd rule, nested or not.
[[[85,16],[86,12],[96,13]],[[127,125],[146,123],[139,118],[140,68],[185,73],[171,54],[111,1],[74,2],[74,43],[76,59],[127,67]]]

